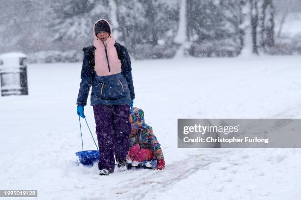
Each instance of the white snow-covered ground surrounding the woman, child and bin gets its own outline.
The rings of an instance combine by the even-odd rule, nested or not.
[[[105,177],[97,164],[76,162],[80,70],[29,65],[30,95],[0,97],[0,189],[37,189],[39,200],[300,198],[301,150],[178,149],[177,119],[301,118],[301,56],[133,61],[134,105],[144,109],[166,169]],[[91,106],[85,115],[94,132]]]

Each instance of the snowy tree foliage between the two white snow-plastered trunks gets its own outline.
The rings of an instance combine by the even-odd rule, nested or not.
[[[235,56],[243,46],[242,0],[187,0],[193,56]]]

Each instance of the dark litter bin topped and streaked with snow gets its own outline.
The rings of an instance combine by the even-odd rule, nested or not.
[[[0,55],[1,96],[28,95],[26,55]]]

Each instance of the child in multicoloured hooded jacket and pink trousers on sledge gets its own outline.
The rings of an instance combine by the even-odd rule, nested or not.
[[[151,126],[144,123],[143,110],[132,107],[129,121],[132,129],[126,162],[136,167],[142,161],[157,160],[156,169],[163,170],[165,167],[163,152]]]

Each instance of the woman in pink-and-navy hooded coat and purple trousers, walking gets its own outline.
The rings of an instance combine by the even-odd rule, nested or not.
[[[114,172],[115,159],[120,171],[126,170],[129,149],[129,108],[135,98],[131,61],[125,47],[113,37],[112,27],[106,20],[93,26],[93,45],[85,47],[81,72],[77,113],[85,118],[84,106],[91,91],[100,151],[99,175]]]

